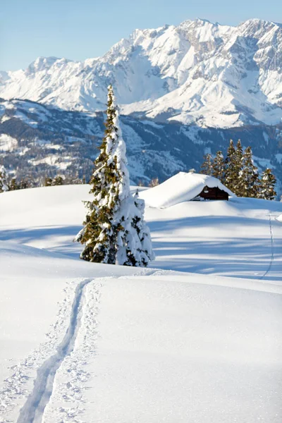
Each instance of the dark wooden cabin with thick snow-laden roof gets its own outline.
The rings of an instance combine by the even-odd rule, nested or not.
[[[171,207],[192,200],[228,200],[235,194],[213,176],[179,172],[164,183],[140,192],[147,206]]]

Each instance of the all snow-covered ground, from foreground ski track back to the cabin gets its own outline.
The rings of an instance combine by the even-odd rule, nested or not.
[[[148,207],[132,269],[78,259],[88,190],[0,195],[0,422],[280,423],[282,203]]]

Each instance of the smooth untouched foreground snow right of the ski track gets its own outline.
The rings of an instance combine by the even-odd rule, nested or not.
[[[106,282],[85,421],[278,422],[281,295],[201,278]]]

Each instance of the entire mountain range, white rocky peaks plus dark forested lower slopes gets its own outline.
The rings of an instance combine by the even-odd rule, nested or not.
[[[89,139],[99,142],[102,137],[109,84],[123,115],[135,182],[197,167],[202,154],[226,150],[231,136],[252,145],[257,165],[273,167],[282,180],[281,24],[253,19],[231,27],[186,20],[135,30],[99,58],[40,57],[25,70],[2,71],[2,161],[33,142],[38,153],[30,158],[25,145],[29,150],[20,150],[18,167],[35,170],[34,163],[43,160],[52,171],[60,157],[48,158],[49,141],[72,157],[59,166],[62,171],[79,168],[83,157],[91,161],[97,152]],[[27,138],[23,125],[31,128]],[[14,141],[8,148],[6,137],[16,140],[17,147]],[[83,140],[77,141],[77,155],[68,137]],[[60,156],[59,149],[56,154]]]

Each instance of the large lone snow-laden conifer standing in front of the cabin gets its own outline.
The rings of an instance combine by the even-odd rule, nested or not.
[[[89,262],[145,266],[145,250],[134,226],[136,205],[130,193],[125,142],[111,85],[106,115],[105,134],[90,179],[93,200],[85,202],[84,228],[75,240],[85,245],[80,258]]]

